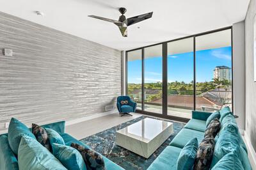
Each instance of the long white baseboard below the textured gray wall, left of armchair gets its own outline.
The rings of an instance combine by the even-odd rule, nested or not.
[[[108,112],[99,112],[99,113],[89,114],[87,116],[84,116],[83,118],[78,118],[76,120],[68,120],[68,121],[66,121],[65,125],[66,126],[73,125],[73,124],[76,124],[76,123],[80,123],[82,121],[92,120],[92,119],[99,118],[99,117],[102,117],[102,116],[106,116],[106,115],[109,115],[109,114],[113,114],[113,113],[116,113],[116,112],[118,112],[117,109],[114,109],[113,111],[108,111]]]

